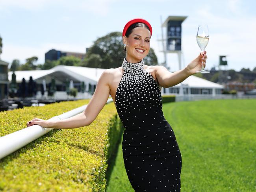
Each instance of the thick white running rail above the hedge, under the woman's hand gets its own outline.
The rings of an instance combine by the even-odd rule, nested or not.
[[[112,99],[108,99],[107,103],[113,102]],[[76,114],[82,113],[87,105],[83,105],[76,109],[72,109],[66,113],[60,114],[58,116],[54,116],[50,119],[59,120],[59,119],[67,119]],[[6,157],[7,155],[13,153],[16,150],[19,150],[26,144],[29,144],[33,140],[45,135],[49,131],[54,128],[43,128],[39,125],[33,125],[30,127],[26,127],[14,133],[10,133],[3,137],[0,137],[0,159]]]

